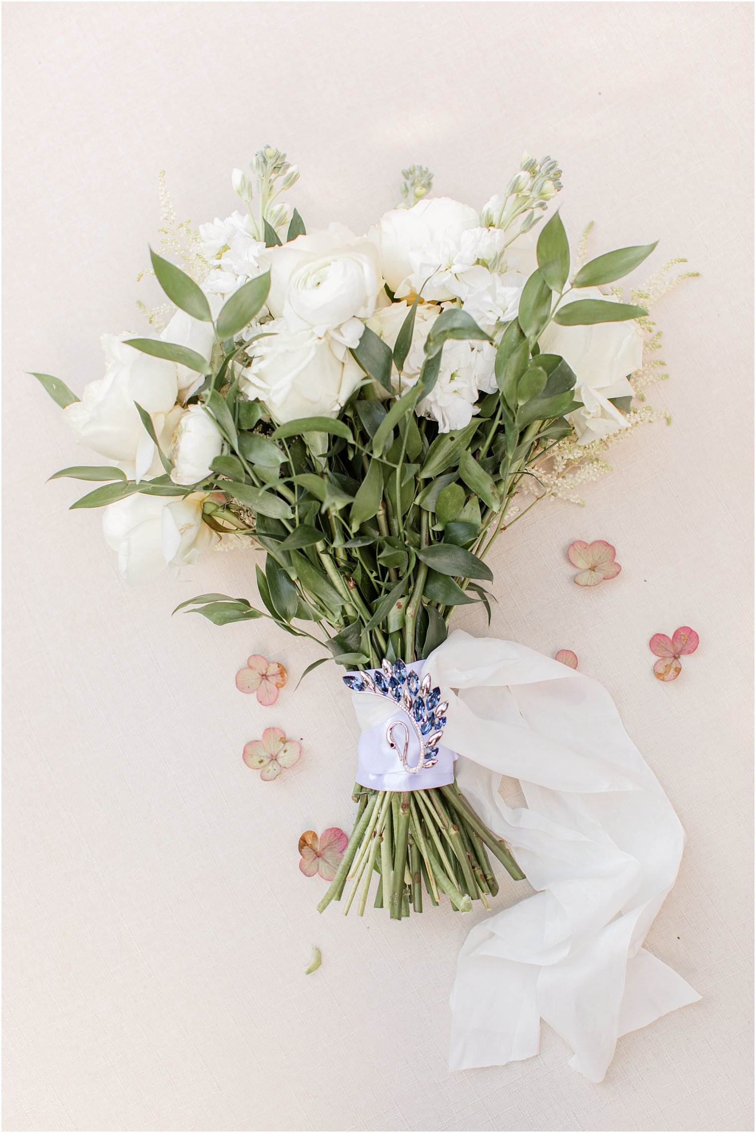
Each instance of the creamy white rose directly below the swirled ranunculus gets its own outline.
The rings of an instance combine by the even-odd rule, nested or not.
[[[278,424],[337,417],[364,377],[360,367],[337,358],[328,339],[292,333],[284,320],[274,320],[267,330],[275,333],[255,343],[257,353],[240,377],[242,391],[263,401]]]

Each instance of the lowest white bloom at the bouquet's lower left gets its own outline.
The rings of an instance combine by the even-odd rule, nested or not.
[[[166,566],[178,570],[197,562],[215,538],[203,522],[205,499],[201,492],[184,500],[137,494],[105,508],[105,542],[118,552],[118,568],[127,582],[139,585]]]

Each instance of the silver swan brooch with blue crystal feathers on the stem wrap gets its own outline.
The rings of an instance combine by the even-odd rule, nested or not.
[[[401,658],[393,664],[385,657],[380,663],[380,668],[375,673],[350,673],[342,678],[347,689],[353,692],[367,692],[375,697],[383,697],[385,700],[395,701],[404,712],[407,722],[420,743],[420,756],[414,766],[407,761],[407,748],[410,746],[410,730],[402,721],[394,721],[386,730],[388,746],[398,753],[404,770],[410,775],[416,775],[426,767],[432,767],[438,763],[438,743],[444,733],[446,724],[446,709],[448,704],[441,700],[441,690],[431,689],[430,674],[426,673],[422,681],[418,674],[407,670]],[[402,746],[396,742],[394,733],[404,733]]]

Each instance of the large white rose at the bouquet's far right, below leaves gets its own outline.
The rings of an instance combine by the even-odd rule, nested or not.
[[[578,299],[618,301],[598,288],[582,288],[573,291],[562,305]],[[569,414],[568,420],[577,433],[578,444],[590,444],[628,427],[625,415],[609,399],[633,397],[627,378],[643,365],[643,331],[637,323],[593,326],[550,323],[540,346],[544,353],[561,355],[577,376],[575,399],[583,402],[583,408]]]

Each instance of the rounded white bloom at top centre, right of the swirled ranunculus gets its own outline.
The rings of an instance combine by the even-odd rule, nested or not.
[[[368,239],[378,248],[380,271],[389,288],[395,295],[404,296],[412,290],[407,281],[415,273],[413,254],[416,263],[418,256],[423,256],[429,246],[439,245],[436,250],[440,256],[440,241],[446,241],[449,248],[458,247],[462,233],[478,228],[479,223],[478,213],[470,205],[459,204],[450,197],[430,197],[419,201],[412,208],[392,208],[384,213],[378,224],[368,232]],[[423,259],[426,263],[427,259]],[[440,263],[440,258],[432,262],[431,257],[431,271]],[[428,297],[440,299],[449,298],[449,295],[431,296],[429,292]]]

